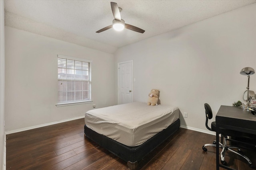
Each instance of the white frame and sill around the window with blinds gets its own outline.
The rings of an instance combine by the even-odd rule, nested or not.
[[[89,72],[90,72],[90,74],[89,74],[89,82],[90,82],[89,83],[89,97],[90,97],[90,99],[89,100],[72,101],[72,102],[63,102],[63,103],[58,103],[58,101],[57,101],[56,106],[60,107],[60,106],[71,106],[71,105],[77,105],[77,104],[92,103],[92,61],[88,60],[88,59],[75,58],[75,57],[70,57],[70,56],[66,56],[66,55],[57,55],[57,74],[58,74],[58,68],[59,68],[59,62],[58,62],[59,58],[89,63],[89,65],[90,65],[90,68],[89,68]],[[62,81],[62,80],[67,80],[67,81],[71,81],[71,82],[79,81],[79,80],[75,80],[75,79],[72,80],[72,79],[59,79],[58,78],[58,82]],[[80,80],[80,81],[83,81],[83,80]],[[88,80],[84,80],[84,82],[88,82]],[[59,87],[58,87],[58,91],[59,91]],[[75,90],[74,90],[74,92],[75,92]],[[58,94],[57,94],[57,97],[58,97]]]

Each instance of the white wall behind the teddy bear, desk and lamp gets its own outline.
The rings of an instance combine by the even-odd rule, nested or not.
[[[134,62],[134,101],[146,102],[157,88],[161,104],[188,113],[182,125],[206,130],[204,103],[215,117],[220,105],[242,100],[247,76],[240,70],[256,70],[255,11],[252,4],[118,49],[115,65]],[[256,92],[256,74],[250,90]]]

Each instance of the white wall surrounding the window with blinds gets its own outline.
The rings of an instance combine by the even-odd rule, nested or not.
[[[84,116],[116,104],[114,56],[109,53],[5,27],[6,131]],[[57,55],[92,60],[91,104],[56,107]]]

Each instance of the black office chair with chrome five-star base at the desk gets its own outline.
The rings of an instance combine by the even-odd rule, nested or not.
[[[216,122],[212,122],[211,124],[211,127],[208,127],[208,119],[212,119],[212,109],[210,107],[209,104],[204,104],[204,108],[205,108],[205,114],[206,114],[206,122],[205,122],[205,125],[206,125],[206,128],[209,129],[210,131],[215,131],[216,132]],[[239,153],[241,152],[240,148],[238,147],[234,147],[234,146],[227,146],[227,136],[243,136],[243,133],[240,133],[238,131],[232,131],[232,130],[229,130],[229,129],[223,129],[223,128],[220,128],[219,129],[220,131],[220,134],[221,134],[221,143],[219,143],[219,147],[222,148],[222,151],[220,153],[220,158],[221,158],[221,163],[223,165],[226,165],[227,162],[225,161],[225,152],[226,150],[229,150],[235,154],[238,154],[240,156],[242,156],[244,159],[247,160],[249,166],[252,167],[252,162],[250,161],[250,159],[243,155],[242,153]],[[228,139],[230,140],[230,139]],[[222,144],[224,141],[224,144]],[[202,149],[206,152],[207,151],[207,148],[208,146],[211,146],[211,147],[216,147],[216,141],[213,141],[213,144],[204,144],[204,146],[202,147]],[[238,152],[236,152],[235,150],[232,150],[232,149],[238,149]]]

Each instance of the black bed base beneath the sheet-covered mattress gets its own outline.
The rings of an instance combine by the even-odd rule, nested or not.
[[[84,134],[86,137],[96,142],[101,147],[109,150],[122,160],[127,162],[130,169],[135,169],[136,165],[144,156],[158,147],[168,137],[180,128],[180,119],[176,120],[169,127],[156,134],[154,137],[136,147],[128,147],[118,143],[104,135],[100,135],[84,125]]]

